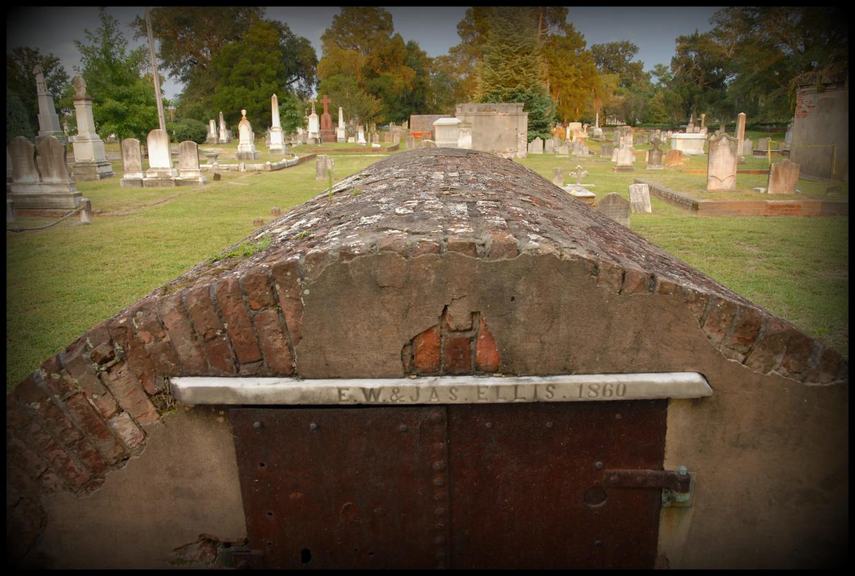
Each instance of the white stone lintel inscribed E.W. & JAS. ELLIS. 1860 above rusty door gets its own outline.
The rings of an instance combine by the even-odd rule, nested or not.
[[[182,404],[497,404],[703,398],[697,372],[553,376],[428,376],[417,379],[178,377]]]

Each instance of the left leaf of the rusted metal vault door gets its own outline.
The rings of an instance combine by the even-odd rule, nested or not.
[[[445,407],[230,410],[268,568],[445,567]]]

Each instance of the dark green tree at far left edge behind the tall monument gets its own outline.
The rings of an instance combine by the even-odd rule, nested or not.
[[[38,48],[16,46],[6,55],[6,85],[18,96],[33,126],[38,126],[36,75],[32,73],[37,64],[42,67],[44,84],[47,85],[50,96],[53,96],[56,112],[60,116],[71,113],[70,109],[60,107],[62,90],[68,84],[68,73],[60,64],[59,58],[52,54],[42,55]]]

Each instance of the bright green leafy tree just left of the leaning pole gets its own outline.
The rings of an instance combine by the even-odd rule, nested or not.
[[[84,30],[88,41],[75,40],[83,66],[80,74],[92,98],[95,128],[102,137],[144,140],[157,127],[157,104],[151,75],[141,73],[147,67],[144,47],[128,51],[119,21],[98,9],[101,26],[95,32]],[[63,100],[67,101],[68,92]]]

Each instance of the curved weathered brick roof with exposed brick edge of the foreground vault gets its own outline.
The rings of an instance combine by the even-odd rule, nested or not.
[[[9,395],[10,457],[32,461],[44,489],[86,491],[139,450],[139,425],[169,409],[168,375],[299,375],[304,282],[332,262],[384,251],[575,259],[613,293],[679,296],[713,346],[749,369],[811,385],[848,381],[838,352],[492,154],[394,155],[246,241],[265,235],[269,246],[251,257],[194,267],[46,360]],[[50,454],[50,466],[32,450]]]

